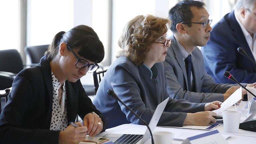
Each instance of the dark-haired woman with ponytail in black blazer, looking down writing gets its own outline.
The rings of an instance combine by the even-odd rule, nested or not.
[[[79,25],[55,35],[40,63],[14,79],[0,115],[0,141],[77,144],[107,127],[86,95],[80,78],[98,69],[104,48],[91,27]],[[76,115],[83,119],[77,122]]]

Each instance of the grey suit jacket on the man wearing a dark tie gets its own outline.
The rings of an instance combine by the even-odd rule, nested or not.
[[[224,101],[223,93],[232,84],[216,84],[214,79],[204,69],[204,59],[198,47],[192,51],[192,67],[194,92],[187,91],[188,79],[184,60],[174,36],[168,47],[167,56],[163,62],[166,69],[167,91],[173,99],[186,99],[190,102],[202,103]]]

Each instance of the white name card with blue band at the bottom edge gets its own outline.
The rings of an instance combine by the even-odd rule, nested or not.
[[[218,130],[187,138],[182,144],[228,144]]]

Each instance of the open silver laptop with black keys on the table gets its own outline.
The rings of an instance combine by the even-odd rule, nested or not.
[[[169,97],[161,102],[149,122],[149,128],[153,132],[163,111],[169,100]],[[108,138],[110,141],[113,141],[114,144],[143,144],[150,138],[150,132],[147,129],[144,135],[136,135],[136,134],[106,134],[103,136],[104,138]]]

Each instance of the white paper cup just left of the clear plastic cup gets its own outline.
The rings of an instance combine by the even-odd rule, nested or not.
[[[224,132],[238,133],[241,113],[240,111],[222,112]]]

